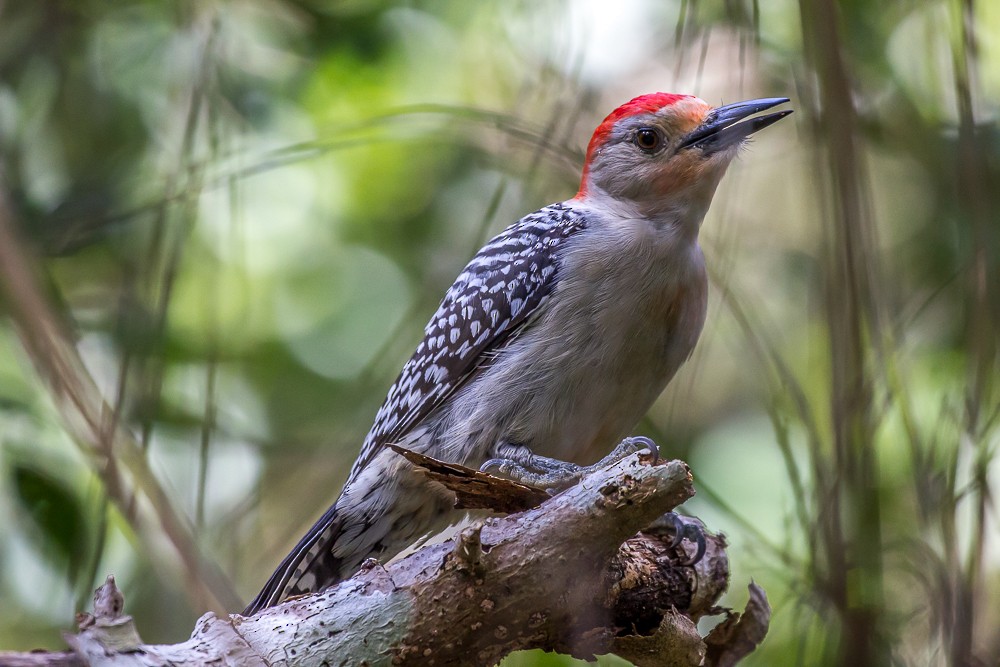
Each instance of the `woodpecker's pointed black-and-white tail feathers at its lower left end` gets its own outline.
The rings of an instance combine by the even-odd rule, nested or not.
[[[332,505],[285,556],[243,615],[252,616],[289,596],[312,593],[336,583],[340,568],[331,547],[340,530],[337,508]]]

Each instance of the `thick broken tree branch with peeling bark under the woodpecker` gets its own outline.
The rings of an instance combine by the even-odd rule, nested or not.
[[[633,455],[534,509],[481,521],[384,567],[370,561],[323,593],[250,618],[208,613],[181,644],[143,645],[128,617],[100,612],[67,639],[77,664],[96,656],[106,665],[494,665],[512,651],[541,648],[579,657],[613,652],[643,666],[698,665],[706,644],[694,622],[720,611],[713,605],[728,580],[725,541],[710,537],[692,569],[674,564],[687,554],[669,539],[637,535],[693,494],[684,463]],[[117,589],[102,589],[95,609],[118,608]],[[729,623],[734,641],[759,641],[767,616]],[[713,637],[715,653],[728,658],[730,648],[740,655],[753,648]],[[9,659],[0,655],[0,665],[15,664]]]

